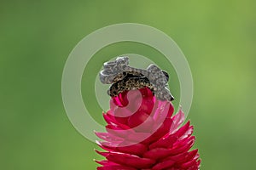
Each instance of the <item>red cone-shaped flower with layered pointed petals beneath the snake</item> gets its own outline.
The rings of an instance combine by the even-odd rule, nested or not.
[[[130,101],[130,102],[129,102]],[[98,170],[198,170],[201,164],[193,126],[184,121],[183,111],[173,114],[173,105],[154,97],[149,88],[119,94],[104,113],[107,133],[96,133],[106,161],[96,161]]]

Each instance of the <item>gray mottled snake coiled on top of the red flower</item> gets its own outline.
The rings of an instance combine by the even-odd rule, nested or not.
[[[166,71],[161,71],[156,65],[149,65],[147,70],[143,70],[128,64],[128,57],[118,57],[115,61],[104,63],[100,79],[102,83],[112,84],[108,89],[110,96],[116,96],[125,90],[148,87],[157,99],[174,99],[167,88],[169,76]]]

